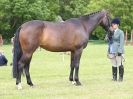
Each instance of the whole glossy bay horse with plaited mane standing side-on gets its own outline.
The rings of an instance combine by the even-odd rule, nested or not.
[[[33,20],[22,24],[14,40],[13,77],[16,78],[17,88],[22,89],[23,70],[27,84],[33,86],[29,68],[32,55],[39,46],[52,52],[70,51],[69,80],[75,81],[75,85],[81,85],[78,77],[80,58],[90,34],[98,25],[109,31],[111,23],[106,10],[71,18],[64,22]]]

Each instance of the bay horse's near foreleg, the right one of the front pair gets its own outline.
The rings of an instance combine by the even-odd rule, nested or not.
[[[78,74],[79,74],[79,64],[80,64],[82,51],[83,51],[83,48],[78,49],[74,52],[74,67],[75,67],[74,80],[76,82],[76,85],[81,85]]]

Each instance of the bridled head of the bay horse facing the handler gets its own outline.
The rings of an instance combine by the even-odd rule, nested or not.
[[[103,17],[100,21],[100,26],[102,26],[106,32],[111,32],[110,27],[111,27],[111,18],[106,10],[101,11],[103,13]]]

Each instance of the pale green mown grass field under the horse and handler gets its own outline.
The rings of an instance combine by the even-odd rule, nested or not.
[[[34,87],[22,77],[22,90],[17,90],[12,79],[11,45],[3,50],[9,63],[0,67],[0,99],[133,99],[133,46],[125,46],[125,75],[122,83],[113,82],[111,64],[106,57],[107,44],[91,41],[81,57],[79,78],[82,86],[69,80],[70,57],[60,53],[37,50],[31,62]]]

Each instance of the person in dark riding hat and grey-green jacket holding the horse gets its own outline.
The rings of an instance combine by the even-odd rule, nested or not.
[[[124,66],[123,66],[123,55],[124,55],[124,32],[119,29],[120,20],[115,18],[111,22],[112,31],[111,36],[109,37],[109,49],[108,57],[112,63],[112,75],[113,81],[117,81],[117,71],[119,68],[119,80],[123,81],[124,75]]]

